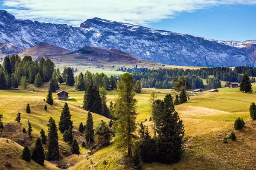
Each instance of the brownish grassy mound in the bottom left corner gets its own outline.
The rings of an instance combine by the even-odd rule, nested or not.
[[[58,170],[58,168],[49,163],[48,161],[44,162],[44,167],[37,164],[35,161],[26,162],[22,159],[22,150],[23,147],[17,144],[16,142],[11,142],[6,138],[0,138],[0,169],[9,170],[9,169],[19,169],[19,170]],[[5,163],[8,161],[12,167],[5,167]]]

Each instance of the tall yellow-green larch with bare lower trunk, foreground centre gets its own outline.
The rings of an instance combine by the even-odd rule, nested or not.
[[[114,117],[116,122],[116,144],[123,150],[128,150],[128,157],[132,158],[132,147],[134,139],[137,138],[136,131],[136,95],[134,91],[134,79],[131,74],[125,73],[120,76],[117,84],[117,98]]]

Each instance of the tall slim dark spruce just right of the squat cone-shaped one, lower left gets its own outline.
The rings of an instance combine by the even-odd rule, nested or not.
[[[60,153],[58,147],[58,130],[55,124],[55,120],[52,120],[52,123],[48,129],[48,144],[47,144],[47,156],[46,159],[49,161],[59,160]]]

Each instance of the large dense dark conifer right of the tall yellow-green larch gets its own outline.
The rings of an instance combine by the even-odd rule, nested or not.
[[[156,122],[158,159],[162,163],[171,164],[179,161],[182,156],[184,125],[175,111],[171,94],[166,95],[160,107],[161,113]]]

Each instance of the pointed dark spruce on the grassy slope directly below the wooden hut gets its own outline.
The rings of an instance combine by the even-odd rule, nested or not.
[[[67,102],[65,103],[64,107],[61,111],[60,121],[58,123],[59,130],[61,133],[64,133],[65,130],[71,126],[73,128],[73,121],[71,121],[71,114]]]

